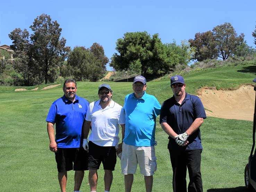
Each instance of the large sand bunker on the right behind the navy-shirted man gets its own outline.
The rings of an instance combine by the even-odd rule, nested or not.
[[[253,86],[244,85],[237,90],[203,88],[198,93],[206,108],[207,116],[253,121],[255,104]]]

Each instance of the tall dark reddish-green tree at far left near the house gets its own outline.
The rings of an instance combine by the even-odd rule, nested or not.
[[[60,39],[61,28],[50,16],[38,16],[30,26],[33,34],[26,29],[16,28],[9,37],[14,50],[16,71],[22,73],[26,85],[45,84],[57,79],[57,70],[67,57],[70,50],[65,47],[65,38]]]

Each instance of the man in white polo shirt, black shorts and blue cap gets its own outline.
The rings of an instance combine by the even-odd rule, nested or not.
[[[116,153],[122,150],[121,144],[117,150],[115,146],[119,142],[119,125],[121,125],[124,133],[125,113],[122,106],[111,99],[112,90],[108,84],[100,85],[98,95],[100,99],[90,103],[86,113],[86,121],[83,127],[83,147],[85,150],[89,149],[88,169],[91,192],[96,192],[97,169],[100,168],[101,162],[105,171],[105,192],[109,192],[113,180],[112,171],[114,171],[117,162]],[[92,126],[92,131],[88,143],[87,137],[90,125]]]

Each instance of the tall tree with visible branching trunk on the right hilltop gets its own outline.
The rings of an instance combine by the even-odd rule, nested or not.
[[[218,25],[212,31],[219,57],[223,61],[233,55],[237,47],[244,42],[244,34],[238,36],[230,23]]]

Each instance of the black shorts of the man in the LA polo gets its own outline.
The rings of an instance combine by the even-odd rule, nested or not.
[[[55,159],[58,172],[88,170],[88,152],[83,147],[57,148]]]

